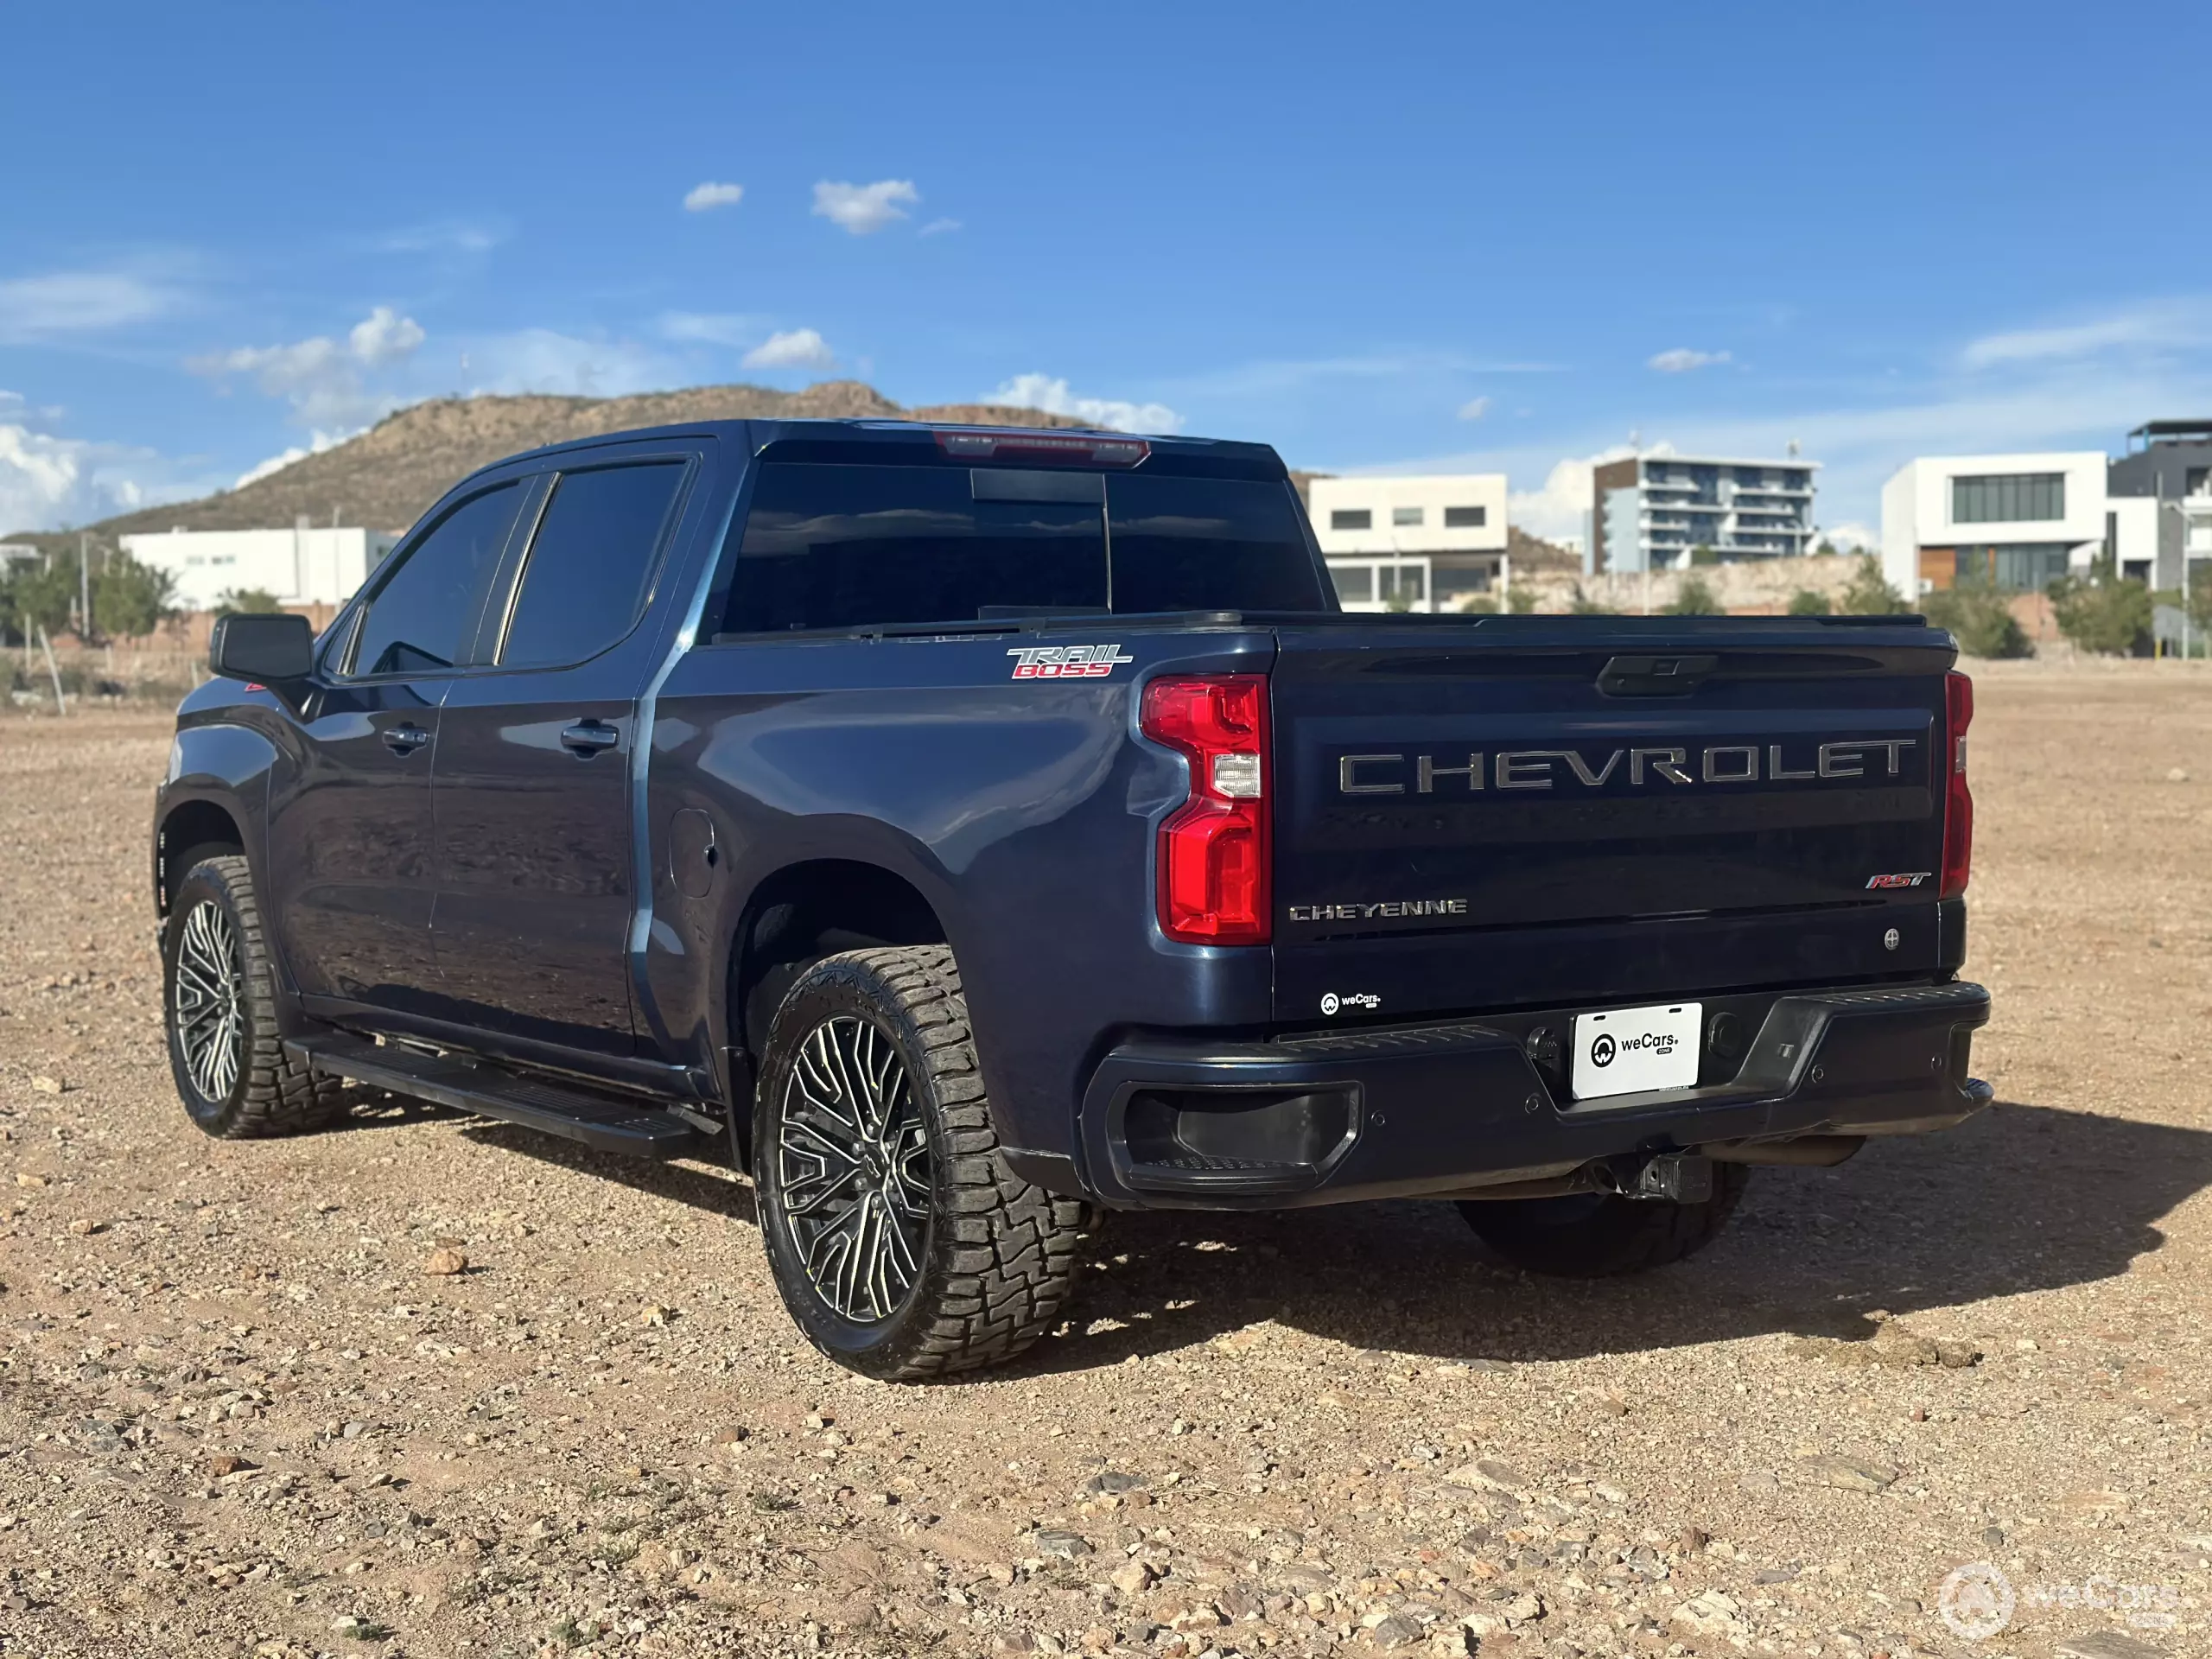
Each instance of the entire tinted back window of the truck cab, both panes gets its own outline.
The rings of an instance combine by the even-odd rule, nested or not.
[[[1321,604],[1287,484],[768,462],[726,633]]]

